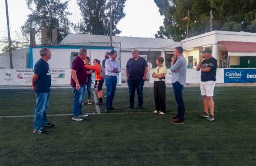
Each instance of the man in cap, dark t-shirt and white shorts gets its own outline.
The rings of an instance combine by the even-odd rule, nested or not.
[[[207,117],[206,120],[215,120],[214,116],[214,87],[216,81],[217,60],[212,57],[211,50],[205,48],[201,51],[202,55],[199,57],[197,71],[201,70],[200,89],[203,96],[204,112],[201,117]],[[204,58],[204,60],[203,60]],[[210,114],[208,109],[210,108]]]

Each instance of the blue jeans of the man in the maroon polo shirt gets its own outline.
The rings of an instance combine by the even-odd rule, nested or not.
[[[77,90],[75,86],[73,86],[73,93],[74,93],[74,104],[73,104],[73,116],[78,116],[82,113],[82,96],[84,91],[84,85],[80,86],[80,89]]]

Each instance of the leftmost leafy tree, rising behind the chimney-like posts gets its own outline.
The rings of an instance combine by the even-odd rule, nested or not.
[[[35,28],[37,34],[40,32],[41,28],[46,28],[47,42],[50,43],[52,29],[57,29],[58,41],[61,41],[70,33],[73,24],[67,17],[71,15],[71,13],[67,11],[69,1],[26,0],[26,2],[31,13],[28,15],[28,19],[22,26],[24,35],[27,37],[29,36],[30,28]]]

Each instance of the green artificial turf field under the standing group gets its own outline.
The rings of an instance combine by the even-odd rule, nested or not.
[[[129,92],[117,88],[117,111],[100,106],[81,122],[49,116],[56,127],[46,135],[32,133],[31,116],[4,117],[33,115],[31,90],[0,90],[0,165],[256,165],[256,87],[216,87],[215,122],[199,117],[200,88],[185,87],[184,125],[169,123],[177,104],[166,90],[166,115],[152,113],[153,88],[144,88],[143,110],[127,108]],[[48,114],[70,114],[72,102],[71,89],[52,89]],[[82,108],[95,112],[94,104]]]

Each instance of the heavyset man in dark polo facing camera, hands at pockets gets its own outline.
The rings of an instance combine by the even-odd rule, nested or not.
[[[146,60],[139,56],[138,50],[133,50],[133,58],[127,61],[125,74],[130,92],[130,107],[134,107],[134,95],[137,89],[139,109],[143,109],[143,85],[147,74]]]

